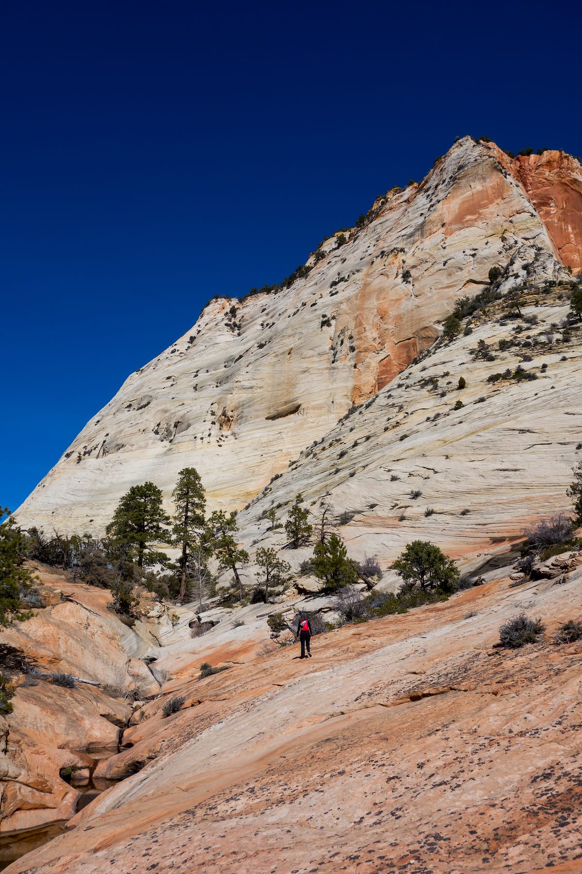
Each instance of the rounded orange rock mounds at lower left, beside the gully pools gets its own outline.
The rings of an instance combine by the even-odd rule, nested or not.
[[[151,642],[146,646],[106,609],[110,593],[46,572],[40,582],[48,606],[30,620],[0,628],[3,669],[24,659],[40,675],[71,673],[120,695],[158,691],[147,665],[134,657]],[[65,689],[42,676],[15,676],[14,710],[0,717],[0,864],[58,834],[79,799],[79,789],[59,777],[61,769],[79,768],[77,780],[86,774],[88,783],[94,759],[116,753],[120,726],[132,715],[127,703],[96,686]]]

